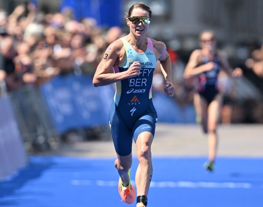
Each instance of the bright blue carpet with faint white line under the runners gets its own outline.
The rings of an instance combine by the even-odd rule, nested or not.
[[[215,172],[205,158],[153,158],[148,206],[262,207],[263,158],[222,158]],[[132,180],[138,161],[133,160]],[[0,182],[0,206],[119,207],[114,159],[32,156],[29,165]]]

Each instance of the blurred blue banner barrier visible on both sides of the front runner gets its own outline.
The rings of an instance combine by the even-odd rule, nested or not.
[[[91,77],[70,74],[53,78],[40,91],[59,133],[108,124],[114,85],[95,88]],[[179,106],[167,94],[153,92],[153,104],[159,122],[195,122],[194,107]]]

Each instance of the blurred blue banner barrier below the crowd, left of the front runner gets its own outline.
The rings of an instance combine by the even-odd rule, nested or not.
[[[40,91],[59,133],[108,124],[112,85],[95,88],[91,77],[70,74],[53,78]]]

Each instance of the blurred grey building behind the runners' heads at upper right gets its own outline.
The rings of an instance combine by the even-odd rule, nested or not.
[[[136,1],[125,0],[125,11]],[[260,0],[160,0],[143,1],[152,8],[149,33],[172,39],[193,36],[207,28],[226,43],[263,42]]]

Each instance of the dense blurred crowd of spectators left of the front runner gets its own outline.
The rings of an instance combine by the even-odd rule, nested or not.
[[[8,16],[1,9],[1,87],[14,91],[23,85],[39,86],[70,72],[93,76],[106,47],[121,36],[117,26],[103,30],[92,18],[72,20],[69,10],[44,14],[29,3]]]

